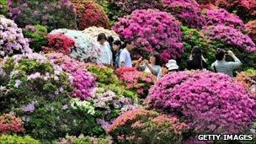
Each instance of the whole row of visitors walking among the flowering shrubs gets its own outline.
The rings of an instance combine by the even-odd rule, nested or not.
[[[162,77],[162,68],[160,67],[160,56],[158,53],[152,53],[148,59],[141,57],[137,61],[131,61],[131,51],[135,48],[131,40],[114,40],[111,36],[107,38],[104,33],[98,35],[98,42],[101,45],[101,53],[98,63],[109,67],[136,67],[137,70],[150,72],[157,77]],[[226,56],[231,56],[233,61],[226,61]],[[207,67],[207,62],[203,56],[200,47],[195,46],[189,60],[186,61],[187,70],[203,70]],[[211,64],[212,71],[225,73],[233,77],[233,70],[242,65],[242,62],[234,55],[232,51],[218,49],[216,51],[216,61]],[[168,72],[178,72],[177,61],[169,60],[165,65]]]

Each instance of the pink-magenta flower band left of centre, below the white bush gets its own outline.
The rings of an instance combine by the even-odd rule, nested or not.
[[[83,68],[83,63],[72,60],[61,53],[51,53],[47,57],[50,61],[61,66],[64,72],[70,74],[72,86],[75,88],[71,93],[72,97],[88,99],[93,96],[93,90],[97,84],[92,74]]]

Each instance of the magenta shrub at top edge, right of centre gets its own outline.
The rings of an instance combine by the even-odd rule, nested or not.
[[[193,0],[163,0],[163,6],[189,28],[201,29],[206,24],[200,5]]]

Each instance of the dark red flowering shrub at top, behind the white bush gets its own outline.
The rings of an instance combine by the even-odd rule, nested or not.
[[[77,10],[78,29],[83,30],[91,26],[109,28],[109,19],[104,9],[93,1],[72,0]]]

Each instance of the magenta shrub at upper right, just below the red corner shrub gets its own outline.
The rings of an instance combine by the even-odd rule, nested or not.
[[[222,24],[241,31],[245,29],[243,21],[237,15],[228,13],[227,10],[223,8],[206,10],[205,19],[207,25]]]

